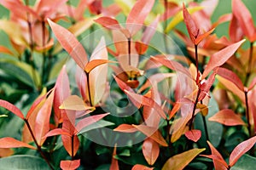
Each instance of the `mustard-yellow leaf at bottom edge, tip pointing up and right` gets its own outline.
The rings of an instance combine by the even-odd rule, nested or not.
[[[176,156],[172,156],[166,161],[164,167],[162,167],[162,170],[183,169],[189,164],[190,161],[192,161],[195,158],[195,156],[199,155],[204,150],[206,149],[195,148],[192,150],[185,151]]]

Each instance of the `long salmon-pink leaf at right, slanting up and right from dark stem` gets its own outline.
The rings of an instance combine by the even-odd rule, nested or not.
[[[207,64],[206,70],[202,75],[202,79],[207,77],[207,75],[216,67],[223,65],[230,57],[236,52],[236,50],[241,46],[241,43],[245,42],[245,39],[240,42],[231,44],[230,46],[218,51],[213,54]]]

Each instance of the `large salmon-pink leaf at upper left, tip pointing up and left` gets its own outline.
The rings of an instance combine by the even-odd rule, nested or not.
[[[62,48],[64,48],[75,60],[77,65],[84,70],[85,65],[88,63],[88,59],[82,44],[70,31],[67,31],[66,28],[55,24],[49,19],[48,22],[50,28],[55,33],[55,37],[61,43]]]

